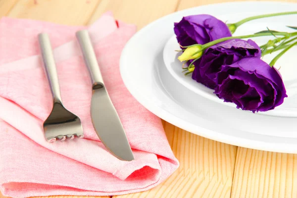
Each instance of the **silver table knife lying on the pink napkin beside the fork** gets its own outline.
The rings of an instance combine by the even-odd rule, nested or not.
[[[131,161],[134,159],[133,152],[105,89],[89,33],[87,30],[81,30],[76,32],[76,37],[92,79],[91,117],[95,131],[109,152],[118,159]]]

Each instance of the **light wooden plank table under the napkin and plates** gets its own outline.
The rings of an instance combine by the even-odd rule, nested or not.
[[[0,17],[88,25],[111,10],[116,19],[134,23],[141,29],[174,11],[224,1],[0,0]],[[164,183],[149,191],[115,197],[297,198],[297,154],[227,145],[194,135],[167,122],[163,124],[171,148],[180,161],[180,168]]]

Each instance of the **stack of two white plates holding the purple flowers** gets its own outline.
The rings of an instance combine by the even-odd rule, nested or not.
[[[297,3],[232,2],[211,4],[175,12],[154,21],[127,43],[120,70],[130,93],[155,115],[191,133],[231,145],[297,153],[297,47],[290,49],[276,67],[281,67],[288,98],[274,110],[252,113],[224,102],[213,90],[184,76],[177,60],[179,45],[173,32],[174,22],[183,16],[210,14],[228,23],[265,13],[296,11]],[[250,21],[234,36],[265,30],[292,32],[297,15]],[[271,37],[272,38],[272,37]],[[270,37],[253,39],[258,45]],[[276,54],[267,55],[269,61]]]

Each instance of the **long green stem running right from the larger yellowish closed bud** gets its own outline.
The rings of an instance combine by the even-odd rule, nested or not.
[[[293,32],[293,33],[287,33],[287,32],[275,32],[274,35],[276,36],[287,36],[289,35],[290,37],[297,35],[297,32]],[[223,41],[227,41],[230,39],[246,39],[246,38],[253,38],[253,37],[263,37],[263,36],[271,36],[271,33],[259,33],[259,34],[251,34],[251,35],[244,35],[244,36],[236,36],[236,37],[224,37],[221,39],[217,39],[214,41],[211,41],[207,44],[202,45],[202,49],[206,49],[209,48],[213,45],[216,45],[218,43],[221,43]],[[198,45],[198,44],[197,44]]]

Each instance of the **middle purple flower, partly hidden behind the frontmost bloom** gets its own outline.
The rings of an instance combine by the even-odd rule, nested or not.
[[[205,50],[195,63],[192,78],[206,87],[217,86],[216,75],[222,65],[231,65],[245,57],[261,57],[261,49],[252,40],[232,39]]]

